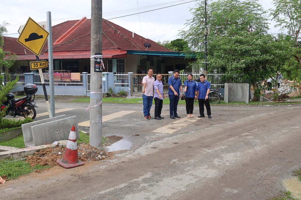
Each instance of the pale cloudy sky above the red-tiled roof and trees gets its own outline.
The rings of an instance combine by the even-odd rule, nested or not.
[[[190,9],[196,3],[189,1],[191,0],[104,0],[102,1],[102,16],[104,19],[155,42],[171,41],[180,38],[179,30],[186,27],[187,19],[192,18]],[[273,8],[272,0],[259,0],[258,2],[265,10]],[[154,10],[162,7],[167,8]],[[154,11],[125,16],[148,10]],[[15,33],[18,33],[20,25],[24,25],[28,17],[36,22],[46,21],[47,11],[51,12],[52,26],[82,17],[91,18],[91,0],[2,1],[0,24],[3,21],[10,24],[6,26],[8,35],[5,36],[18,37],[19,34]],[[120,18],[111,19],[115,17]],[[269,33],[279,33],[279,28],[274,28],[275,22],[270,23]]]

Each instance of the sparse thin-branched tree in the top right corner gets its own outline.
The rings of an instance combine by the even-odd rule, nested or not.
[[[294,41],[293,57],[299,62],[301,70],[301,0],[273,0],[275,9],[270,9],[271,16],[277,22],[275,27],[287,30]]]

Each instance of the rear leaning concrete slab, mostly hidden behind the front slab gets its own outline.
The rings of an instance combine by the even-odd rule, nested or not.
[[[43,120],[39,120],[39,121],[33,121],[33,122],[30,122],[27,124],[22,124],[22,132],[23,132],[25,147],[35,146],[35,144],[33,142],[33,135],[31,132],[32,126],[36,126],[39,124],[44,124],[44,123],[47,123],[50,121],[55,121],[55,120],[64,119],[64,118],[66,118],[66,115],[60,115],[60,116],[53,117],[53,118],[43,119]]]

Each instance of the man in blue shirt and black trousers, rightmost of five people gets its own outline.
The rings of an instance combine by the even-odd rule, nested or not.
[[[200,115],[198,118],[205,117],[204,104],[206,106],[208,118],[211,118],[211,109],[209,104],[209,91],[211,89],[210,82],[206,81],[205,74],[200,75],[200,81],[197,85],[197,100],[199,102]]]

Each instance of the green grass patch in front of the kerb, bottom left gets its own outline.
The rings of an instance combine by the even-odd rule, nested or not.
[[[0,161],[0,176],[7,176],[9,179],[16,179],[19,176],[27,175],[36,170],[48,169],[50,166],[36,165],[30,167],[29,163],[24,160],[2,160]]]

